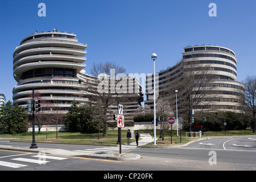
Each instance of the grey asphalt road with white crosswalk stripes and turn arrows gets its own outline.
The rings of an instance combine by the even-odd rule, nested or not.
[[[30,143],[0,141],[11,146],[30,146]],[[42,148],[61,148],[64,150],[110,150],[106,146],[86,146],[75,144],[37,144]],[[97,148],[97,149],[96,149]],[[114,148],[114,147],[113,147]],[[113,149],[116,150],[116,149]],[[256,171],[256,136],[212,137],[197,140],[183,147],[145,148],[131,147],[125,150],[142,156],[138,160],[112,161],[85,159],[79,157],[52,156],[42,159],[38,154],[0,150],[0,170],[92,170],[103,171],[175,171],[175,170],[245,170]],[[56,157],[56,158],[53,158]],[[17,159],[18,158],[18,159]],[[40,159],[39,159],[40,158]],[[30,160],[34,159],[34,160]],[[46,164],[36,163],[36,160]],[[10,163],[20,167],[8,166]],[[12,164],[10,164],[12,165]],[[98,176],[99,177],[99,176]]]

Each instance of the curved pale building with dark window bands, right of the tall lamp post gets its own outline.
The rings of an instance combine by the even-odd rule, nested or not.
[[[231,49],[211,45],[188,46],[184,48],[182,54],[183,59],[174,67],[156,74],[158,100],[170,99],[172,106],[176,106],[174,91],[178,90],[178,106],[182,107],[181,103],[184,101],[184,97],[188,97],[185,96],[185,92],[187,92],[185,88],[189,85],[180,84],[184,84],[185,75],[191,72],[191,80],[193,75],[197,74],[199,79],[204,76],[205,83],[203,85],[203,81],[197,79],[191,97],[195,100],[195,97],[201,98],[190,109],[195,109],[198,112],[244,112],[245,85],[237,81],[237,58]],[[207,80],[208,82],[206,82]],[[148,87],[151,88],[152,82],[152,76],[148,76],[146,90]],[[203,86],[200,88],[200,85]],[[179,88],[183,89],[179,90]],[[153,101],[149,99],[152,93],[146,92],[146,95],[145,104],[152,107]]]

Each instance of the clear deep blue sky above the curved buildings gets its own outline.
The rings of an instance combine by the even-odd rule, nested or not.
[[[38,4],[46,4],[46,17]],[[217,16],[210,17],[209,3]],[[156,72],[174,66],[183,48],[212,44],[237,56],[237,80],[255,75],[255,0],[0,0],[0,92],[13,101],[13,51],[35,31],[74,32],[88,44],[86,73],[93,62],[111,61],[126,73],[152,73],[151,53],[158,55]]]

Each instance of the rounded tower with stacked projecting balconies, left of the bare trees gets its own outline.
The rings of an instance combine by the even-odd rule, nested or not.
[[[97,77],[85,74],[86,47],[78,42],[75,34],[59,32],[56,28],[36,31],[22,39],[13,53],[13,73],[18,82],[13,89],[13,103],[27,107],[32,88],[36,97],[57,107],[59,113],[67,113],[74,101],[89,102],[93,92],[88,90],[88,85],[95,85]],[[129,97],[134,99],[127,106],[136,109],[141,105],[140,94]]]

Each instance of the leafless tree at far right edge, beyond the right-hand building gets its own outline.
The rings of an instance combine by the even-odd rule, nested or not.
[[[256,133],[256,76],[247,76],[245,81],[245,105],[253,116],[253,133]]]

